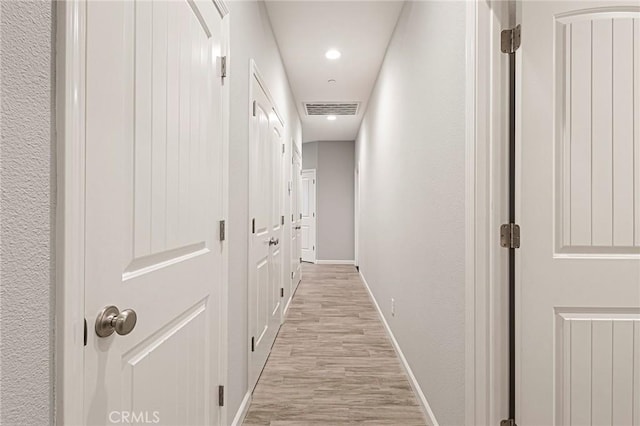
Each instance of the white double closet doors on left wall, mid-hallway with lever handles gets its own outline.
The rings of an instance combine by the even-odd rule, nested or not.
[[[250,123],[249,386],[258,381],[281,322],[283,124],[252,74]]]

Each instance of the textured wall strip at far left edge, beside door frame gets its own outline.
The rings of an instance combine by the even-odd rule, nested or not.
[[[54,6],[0,2],[0,423],[53,421]]]

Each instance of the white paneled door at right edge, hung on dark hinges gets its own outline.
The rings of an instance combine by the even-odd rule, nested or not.
[[[640,8],[523,1],[517,416],[640,424]]]

